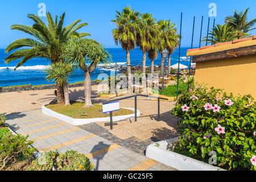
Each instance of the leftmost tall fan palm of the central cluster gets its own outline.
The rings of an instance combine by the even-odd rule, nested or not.
[[[137,11],[131,10],[129,7],[124,7],[122,13],[115,11],[114,20],[117,28],[114,28],[112,31],[115,44],[121,44],[122,48],[126,50],[126,64],[127,64],[127,73],[128,73],[128,86],[131,90],[132,77],[131,77],[131,63],[130,63],[130,50],[135,48],[136,41],[136,30],[138,30],[138,15]]]

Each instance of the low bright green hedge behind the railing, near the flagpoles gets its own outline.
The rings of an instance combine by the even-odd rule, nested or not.
[[[187,84],[179,83],[178,94],[181,94],[181,92],[187,91],[187,90],[188,90]],[[161,92],[162,92],[161,90],[156,91],[156,90],[154,90],[154,88],[152,88],[152,93],[161,95]],[[175,97],[176,95],[177,95],[177,84],[168,85],[163,90],[163,96]]]

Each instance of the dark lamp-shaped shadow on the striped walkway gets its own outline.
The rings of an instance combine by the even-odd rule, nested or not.
[[[109,151],[109,144],[105,144],[104,142],[99,142],[98,144],[96,144],[92,150],[90,151],[90,153],[92,153],[93,155],[93,159],[96,159],[96,168],[94,168],[94,171],[98,171],[99,165],[100,165],[100,160],[102,160],[104,158],[104,156],[106,155],[106,152]],[[98,155],[98,153],[96,151],[101,151],[104,150],[103,154]]]

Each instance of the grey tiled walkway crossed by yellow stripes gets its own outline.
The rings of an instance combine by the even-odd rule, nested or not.
[[[105,133],[90,133],[87,130],[92,127],[89,125],[72,126],[42,114],[40,109],[7,115],[6,122],[16,133],[29,135],[28,139],[34,140],[33,145],[39,151],[57,149],[64,153],[77,150],[90,158],[96,170],[175,170],[146,158],[141,151],[135,152],[118,137],[107,139],[109,131],[106,129]],[[104,127],[97,126],[104,130]]]

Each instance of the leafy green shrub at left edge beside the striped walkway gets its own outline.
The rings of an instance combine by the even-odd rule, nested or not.
[[[32,141],[26,142],[27,137],[6,132],[1,137],[0,170],[21,160],[30,160],[35,148],[30,147]]]

